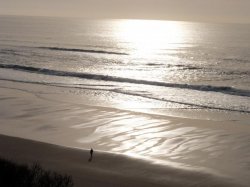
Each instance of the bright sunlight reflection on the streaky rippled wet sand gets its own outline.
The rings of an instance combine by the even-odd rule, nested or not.
[[[213,130],[205,121],[194,123],[188,119],[166,119],[110,109],[92,112],[89,115],[88,111],[88,117],[81,121],[85,125],[77,126],[74,131],[74,135],[79,132],[79,144],[83,147],[92,145],[97,150],[153,158],[161,164],[166,160],[173,162],[173,166],[187,160],[189,163],[211,163],[214,159],[223,158],[223,151],[228,151],[227,145],[234,142],[234,139],[225,141],[225,136],[229,137],[230,133]],[[202,128],[201,122],[205,123],[202,123]]]

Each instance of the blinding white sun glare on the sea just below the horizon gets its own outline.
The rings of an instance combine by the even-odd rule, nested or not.
[[[117,39],[130,45],[132,55],[150,57],[163,49],[178,48],[185,36],[180,22],[123,20],[118,22]]]

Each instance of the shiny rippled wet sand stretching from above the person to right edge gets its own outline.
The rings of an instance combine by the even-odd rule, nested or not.
[[[93,119],[82,126],[73,126],[78,130],[95,126],[92,133],[78,140],[82,144],[163,162],[173,161],[204,168],[219,167],[222,173],[233,171],[234,174],[230,175],[237,175],[237,172],[247,174],[249,171],[246,167],[250,158],[247,131],[129,112],[106,111],[90,118]],[[230,169],[232,167],[234,170]]]

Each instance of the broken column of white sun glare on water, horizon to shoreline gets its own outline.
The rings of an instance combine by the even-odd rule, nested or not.
[[[126,66],[122,75],[133,79],[144,79],[154,81],[157,77],[163,77],[168,73],[164,68],[151,68],[147,63],[159,62],[164,64],[168,53],[178,50],[186,43],[186,24],[175,21],[159,20],[118,20],[114,24],[114,39],[122,48],[129,53],[129,62],[138,66]],[[129,68],[127,68],[129,67]],[[154,88],[152,88],[154,89]],[[140,90],[138,88],[138,90]],[[141,93],[147,94],[147,93]],[[129,101],[121,99],[121,108],[150,110],[159,107],[155,102],[145,103],[141,100]],[[158,103],[159,104],[159,103]],[[162,107],[162,106],[161,106]]]

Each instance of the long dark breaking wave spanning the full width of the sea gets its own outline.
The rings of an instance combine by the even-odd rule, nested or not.
[[[228,95],[250,97],[250,90],[237,89],[237,88],[228,87],[228,86],[165,83],[165,82],[158,82],[158,81],[115,77],[115,76],[109,76],[109,75],[59,71],[59,70],[37,68],[37,67],[30,67],[30,66],[20,66],[20,65],[14,65],[14,64],[0,64],[0,68],[27,71],[30,73],[38,73],[38,74],[44,74],[44,75],[77,77],[77,78],[90,79],[90,80],[112,81],[112,82],[121,82],[121,83],[161,86],[161,87],[169,87],[169,88],[189,89],[189,90],[197,90],[197,91],[219,92],[219,93],[228,94]]]

